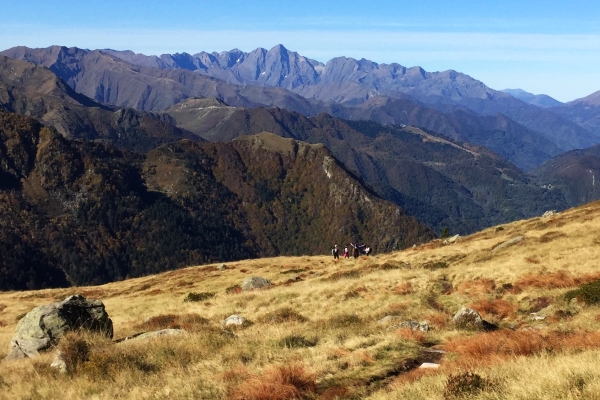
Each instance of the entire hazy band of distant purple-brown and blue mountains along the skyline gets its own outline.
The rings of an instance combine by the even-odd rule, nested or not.
[[[307,116],[327,112],[413,125],[487,146],[525,170],[600,141],[575,117],[573,122],[455,71],[345,57],[322,64],[283,46],[161,57],[59,46],[2,54],[46,66],[78,93],[119,107],[158,111],[207,97],[234,107],[277,106]]]

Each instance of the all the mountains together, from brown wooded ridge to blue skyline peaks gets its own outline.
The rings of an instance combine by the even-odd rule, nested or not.
[[[2,53],[3,289],[340,240],[389,251],[600,196],[597,94],[537,106],[454,71],[283,46]]]

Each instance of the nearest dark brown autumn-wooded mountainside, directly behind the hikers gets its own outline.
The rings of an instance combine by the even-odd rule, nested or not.
[[[145,155],[0,112],[0,288],[104,283],[200,262],[377,252],[434,237],[322,145],[263,134]]]

